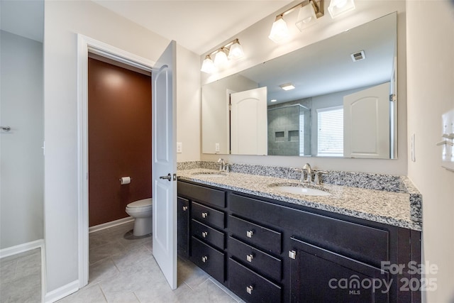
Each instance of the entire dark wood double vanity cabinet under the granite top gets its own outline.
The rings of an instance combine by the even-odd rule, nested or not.
[[[189,260],[245,302],[421,302],[402,290],[419,276],[382,268],[421,263],[418,231],[192,182],[178,194]]]

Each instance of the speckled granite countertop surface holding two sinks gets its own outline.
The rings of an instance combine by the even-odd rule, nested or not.
[[[281,192],[272,187],[273,184],[299,184],[299,180],[239,172],[228,172],[224,173],[223,176],[219,176],[218,173],[216,170],[194,168],[178,170],[177,175],[179,180],[189,180],[223,189],[231,189],[258,197],[322,209],[416,231],[422,230],[421,222],[412,220],[412,214],[419,212],[419,210],[415,211],[412,206],[411,190],[413,188],[411,182],[406,180],[406,177],[403,177],[402,182],[409,187],[409,192],[388,192],[334,184],[305,184],[306,187],[321,189],[331,194],[329,196],[306,196]]]

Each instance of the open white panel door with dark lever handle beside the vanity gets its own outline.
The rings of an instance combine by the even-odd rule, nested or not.
[[[172,41],[152,72],[153,256],[172,290],[177,288],[176,50]]]

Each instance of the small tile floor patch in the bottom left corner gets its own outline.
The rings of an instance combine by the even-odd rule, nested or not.
[[[0,302],[41,302],[41,250],[0,259]]]

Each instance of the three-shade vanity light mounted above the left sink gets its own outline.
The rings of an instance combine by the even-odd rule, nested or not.
[[[212,56],[214,56],[214,61],[211,60]],[[200,70],[201,72],[212,74],[216,67],[226,65],[228,60],[238,60],[242,57],[244,57],[244,52],[243,47],[240,45],[240,40],[231,40],[231,42],[206,55]]]

